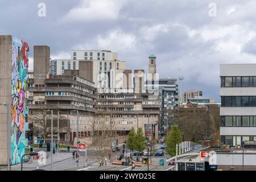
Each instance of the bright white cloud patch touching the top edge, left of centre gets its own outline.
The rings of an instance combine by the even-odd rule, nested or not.
[[[69,10],[63,22],[93,22],[95,20],[115,20],[126,0],[82,0],[79,6]]]

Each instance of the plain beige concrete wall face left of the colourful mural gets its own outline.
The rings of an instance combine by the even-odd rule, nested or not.
[[[11,35],[0,35],[0,104],[11,104]],[[7,107],[0,105],[0,165],[7,165]]]

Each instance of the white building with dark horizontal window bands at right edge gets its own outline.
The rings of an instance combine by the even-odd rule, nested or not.
[[[221,141],[256,141],[256,64],[221,64]]]

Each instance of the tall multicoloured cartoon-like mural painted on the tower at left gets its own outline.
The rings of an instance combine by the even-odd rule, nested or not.
[[[27,101],[27,68],[29,47],[23,40],[13,37],[12,44],[12,84],[11,84],[11,164],[21,162],[28,146],[25,137],[24,123],[28,114]]]

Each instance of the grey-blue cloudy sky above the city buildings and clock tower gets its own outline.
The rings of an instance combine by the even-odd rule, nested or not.
[[[38,16],[39,3],[46,16]],[[160,78],[184,77],[182,90],[219,101],[220,64],[256,63],[255,7],[254,0],[0,0],[0,34],[27,41],[31,60],[35,45],[50,46],[52,59],[109,49],[127,69],[147,71],[154,54]]]

